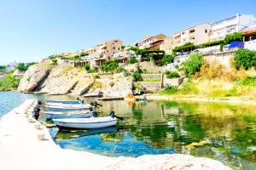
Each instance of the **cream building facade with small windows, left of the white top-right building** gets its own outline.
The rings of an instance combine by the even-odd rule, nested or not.
[[[195,45],[209,42],[211,29],[211,24],[204,23],[184,29],[183,31],[177,31],[173,34],[173,47],[181,46],[187,42],[192,42]]]

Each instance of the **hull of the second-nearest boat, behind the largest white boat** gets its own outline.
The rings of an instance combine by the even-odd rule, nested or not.
[[[47,119],[88,118],[93,116],[93,113],[88,112],[88,113],[80,113],[80,114],[55,114],[55,113],[45,112],[44,116]]]

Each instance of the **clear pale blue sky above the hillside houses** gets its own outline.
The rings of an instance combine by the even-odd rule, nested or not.
[[[0,64],[40,61],[104,40],[126,45],[239,14],[254,0],[0,0]]]

